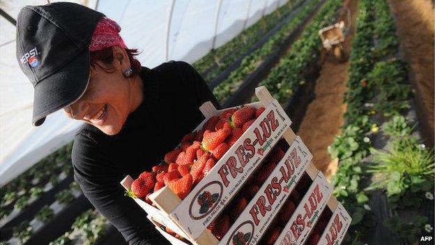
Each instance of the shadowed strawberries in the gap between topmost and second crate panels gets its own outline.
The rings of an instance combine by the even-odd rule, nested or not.
[[[231,200],[220,216],[208,225],[208,230],[210,230],[218,240],[221,240],[222,237],[227,234],[231,225],[234,224],[247,204],[252,200],[252,198],[254,198],[254,195],[257,194],[259,188],[264,184],[264,181],[266,181],[277,166],[277,163],[279,163],[284,157],[287,149],[289,149],[289,144],[287,144],[286,140],[281,139],[277,142],[268,156],[264,158],[264,161],[256,172],[247,179],[247,182],[241,191],[239,191],[233,200]]]

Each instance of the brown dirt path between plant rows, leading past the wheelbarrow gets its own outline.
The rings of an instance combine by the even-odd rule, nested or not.
[[[344,50],[349,54],[355,31],[358,1],[345,0],[344,6],[351,11],[351,31],[344,42]],[[343,20],[348,27],[346,8],[341,10],[339,20]],[[346,105],[343,103],[343,97],[348,66],[349,61],[338,63],[333,55],[326,57],[316,81],[315,99],[308,105],[298,131],[298,135],[314,156],[314,165],[326,177],[334,175],[337,170],[337,161],[330,158],[327,148],[333,143],[334,136],[340,133],[339,127],[344,124],[343,114]]]

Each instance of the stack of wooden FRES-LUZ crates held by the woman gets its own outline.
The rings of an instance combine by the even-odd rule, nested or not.
[[[266,87],[258,87],[255,94],[259,102],[248,105],[266,107],[266,110],[184,200],[165,186],[149,197],[155,207],[138,198],[135,201],[172,244],[187,243],[169,235],[162,230],[162,226],[197,245],[262,244],[262,237],[273,228],[282,207],[287,207],[284,204],[292,193],[297,192],[294,191],[296,186],[303,182],[307,188],[300,194],[298,203],[295,203],[297,206],[287,224],[280,229],[275,244],[340,244],[349,228],[351,217],[332,195],[332,186],[314,167],[312,154],[291,130],[291,120],[281,105],[270,96]],[[204,103],[199,109],[206,119],[195,131],[202,128],[210,117],[224,111],[216,110],[210,102]],[[232,217],[235,221],[228,232],[217,239],[207,229],[208,225],[224,211],[281,139],[289,144],[284,157],[240,216]],[[305,180],[301,181],[303,178]],[[121,184],[129,190],[132,181],[128,176]],[[206,207],[199,201],[204,195],[213,196]],[[296,202],[294,197],[290,199]],[[321,222],[318,223],[319,219]]]

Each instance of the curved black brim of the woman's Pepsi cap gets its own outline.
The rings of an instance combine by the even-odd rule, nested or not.
[[[89,82],[89,50],[36,84],[33,96],[33,126],[40,126],[48,114],[76,101]]]

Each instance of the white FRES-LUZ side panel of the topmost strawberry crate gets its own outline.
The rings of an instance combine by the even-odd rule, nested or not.
[[[196,239],[220,214],[250,177],[291,120],[276,100],[218,161],[211,172],[171,213],[181,228]]]

